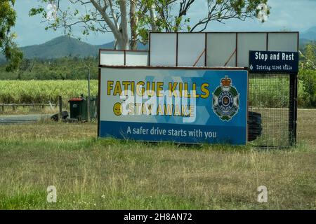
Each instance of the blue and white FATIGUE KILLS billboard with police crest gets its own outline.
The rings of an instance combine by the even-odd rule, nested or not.
[[[100,68],[99,137],[246,144],[248,71]]]

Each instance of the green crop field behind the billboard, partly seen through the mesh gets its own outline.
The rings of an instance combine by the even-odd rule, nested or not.
[[[261,88],[258,88],[260,83]],[[280,76],[278,79],[256,78],[249,79],[251,97],[249,104],[253,106],[265,105],[284,107],[289,104],[289,78]],[[283,86],[283,87],[280,87]],[[64,99],[67,105],[68,99],[79,97],[80,94],[88,94],[86,80],[1,80],[0,104],[45,103],[58,104],[58,96]],[[278,92],[275,92],[278,90]],[[98,80],[91,80],[91,96],[98,94]],[[282,98],[280,99],[280,96]],[[307,104],[305,91],[301,82],[298,83],[298,106]]]

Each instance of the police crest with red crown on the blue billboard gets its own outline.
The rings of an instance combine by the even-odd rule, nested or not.
[[[220,120],[228,121],[238,113],[239,93],[232,85],[232,79],[225,76],[213,92],[213,111]]]

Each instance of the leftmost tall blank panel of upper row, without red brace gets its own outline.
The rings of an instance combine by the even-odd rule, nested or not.
[[[150,65],[176,66],[176,33],[150,34]]]

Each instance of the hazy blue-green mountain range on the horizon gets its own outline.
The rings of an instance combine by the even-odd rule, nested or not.
[[[300,33],[300,48],[310,41],[316,41],[316,27]],[[53,59],[58,57],[72,56],[72,57],[96,57],[98,50],[113,49],[114,41],[105,43],[103,45],[91,45],[84,41],[79,41],[77,38],[68,36],[59,36],[53,38],[51,41],[39,45],[29,45],[20,48],[27,59]],[[138,50],[147,50],[148,46],[138,43]],[[3,56],[0,55],[0,62],[5,62]]]

